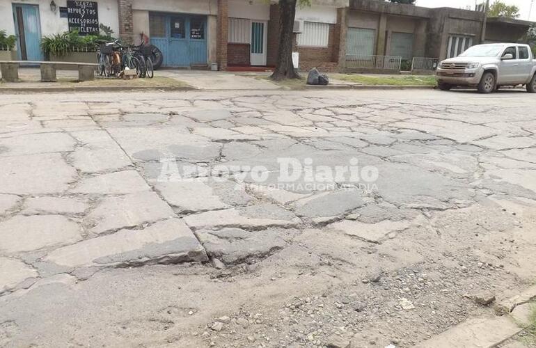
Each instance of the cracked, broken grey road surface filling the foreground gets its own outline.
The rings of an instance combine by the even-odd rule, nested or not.
[[[488,313],[464,295],[534,279],[533,104],[2,95],[0,347],[411,347]],[[377,177],[278,187],[281,157]]]

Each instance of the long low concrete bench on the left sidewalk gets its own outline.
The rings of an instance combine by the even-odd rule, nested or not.
[[[39,65],[41,69],[42,82],[56,82],[56,70],[73,68],[78,70],[79,81],[90,81],[95,79],[95,70],[98,64],[95,63],[70,63],[70,62],[40,62],[40,61],[0,61],[0,72],[3,81],[17,82],[19,80],[19,65]],[[61,66],[61,68],[58,68]]]

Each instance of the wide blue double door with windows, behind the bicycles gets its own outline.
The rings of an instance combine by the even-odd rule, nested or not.
[[[152,45],[164,56],[163,65],[190,66],[207,64],[207,17],[151,13]]]

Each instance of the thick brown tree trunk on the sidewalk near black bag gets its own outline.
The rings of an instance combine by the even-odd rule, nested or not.
[[[279,49],[271,79],[300,79],[292,65],[292,35],[297,0],[279,0]]]

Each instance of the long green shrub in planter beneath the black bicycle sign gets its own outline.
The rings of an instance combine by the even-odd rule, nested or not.
[[[97,40],[113,41],[110,35],[79,35],[78,31],[65,31],[61,34],[45,36],[41,39],[41,49],[46,56],[54,54],[63,56],[68,52],[93,49],[97,45]]]

